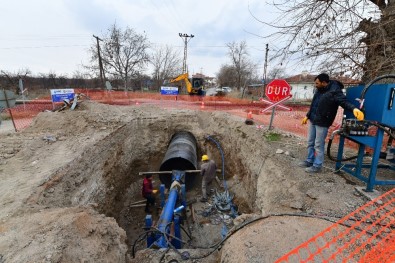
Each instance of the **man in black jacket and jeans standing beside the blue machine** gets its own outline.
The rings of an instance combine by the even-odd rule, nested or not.
[[[364,114],[352,103],[347,101],[342,89],[343,84],[336,80],[329,80],[328,74],[319,74],[314,79],[316,92],[310,105],[310,110],[303,118],[302,124],[310,120],[307,136],[307,158],[299,163],[305,167],[307,173],[319,173],[324,163],[325,138],[328,128],[335,120],[337,109],[341,106],[352,111],[358,120],[364,119]]]

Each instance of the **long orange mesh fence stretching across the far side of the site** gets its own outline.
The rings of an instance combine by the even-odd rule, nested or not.
[[[131,91],[103,91],[75,89],[75,93],[83,93],[90,100],[111,105],[140,105],[152,104],[163,108],[182,108],[202,111],[225,111],[230,114],[246,117],[248,112],[253,114],[254,121],[258,128],[268,126],[271,120],[272,111],[268,110],[264,113],[261,111],[269,106],[269,104],[261,101],[253,101],[251,99],[240,99],[232,97],[217,96],[190,96],[190,95],[161,95],[148,92],[131,92]],[[301,119],[306,115],[308,106],[289,106],[292,111],[287,111],[277,107],[274,112],[272,125],[276,128],[307,136],[307,125],[301,124]],[[43,110],[51,110],[53,105],[51,97],[42,97],[40,100],[34,100],[29,104],[19,105],[12,109],[13,120],[16,130],[28,127],[32,119]],[[330,128],[328,136],[341,123],[343,111],[339,110],[334,125]],[[347,142],[347,141],[346,141]]]

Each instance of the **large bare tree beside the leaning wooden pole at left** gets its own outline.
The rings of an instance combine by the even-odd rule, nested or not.
[[[115,23],[102,37],[101,56],[106,75],[122,79],[126,90],[131,78],[141,75],[149,62],[149,42],[145,35],[127,27],[119,28]],[[90,48],[92,65],[97,64],[97,45]],[[96,69],[97,66],[92,66]]]

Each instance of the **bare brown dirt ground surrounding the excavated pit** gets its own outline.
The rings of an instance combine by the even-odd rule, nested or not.
[[[224,112],[87,101],[75,111],[40,113],[22,132],[0,133],[0,262],[158,262],[163,251],[132,258],[144,213],[128,204],[141,199],[138,172],[158,170],[181,130],[195,135],[198,156],[208,153],[218,164],[220,153],[205,137],[221,143],[243,213],[237,221],[259,218],[213,253],[191,251],[210,256],[189,262],[273,262],[329,226],[319,216],[336,220],[367,201],[352,178],[298,168],[304,138],[276,131],[280,139],[270,142],[272,131]],[[173,257],[180,260],[169,251],[162,262]]]

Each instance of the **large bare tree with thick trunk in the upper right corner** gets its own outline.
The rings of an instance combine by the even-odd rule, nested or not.
[[[331,74],[368,81],[395,71],[395,2],[385,0],[273,1],[273,21],[285,45],[275,56]],[[256,15],[254,15],[257,17]]]

